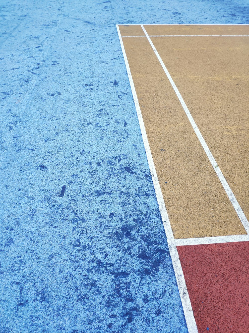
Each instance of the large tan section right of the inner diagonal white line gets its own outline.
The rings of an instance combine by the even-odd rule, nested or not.
[[[249,218],[249,37],[152,42]]]

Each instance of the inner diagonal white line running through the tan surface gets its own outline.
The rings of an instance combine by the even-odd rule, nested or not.
[[[201,132],[199,131],[199,129],[198,129],[198,127],[197,127],[197,125],[196,125],[196,123],[195,123],[195,121],[194,121],[191,113],[189,112],[189,109],[187,108],[187,105],[185,104],[185,102],[184,102],[184,100],[183,100],[183,98],[182,98],[179,90],[177,89],[174,81],[172,80],[172,77],[170,76],[167,68],[165,67],[165,65],[164,65],[164,63],[163,63],[163,61],[162,61],[159,53],[157,52],[154,44],[152,43],[149,35],[147,34],[146,30],[144,29],[144,26],[141,25],[141,27],[142,27],[143,32],[145,33],[145,35],[146,35],[146,37],[148,39],[148,41],[149,41],[149,43],[150,43],[153,51],[155,52],[155,54],[157,56],[157,59],[159,60],[159,62],[161,64],[161,66],[162,66],[165,74],[167,75],[167,77],[169,79],[169,82],[171,83],[171,85],[172,85],[172,87],[173,87],[173,89],[174,89],[174,91],[175,91],[175,93],[176,93],[176,95],[177,95],[180,103],[182,104],[182,107],[183,107],[183,109],[184,109],[184,111],[185,111],[185,113],[186,113],[186,115],[187,115],[187,117],[188,117],[188,119],[189,119],[189,121],[190,121],[190,123],[191,123],[191,125],[192,125],[192,127],[193,127],[193,129],[194,129],[194,131],[195,131],[195,133],[196,133],[196,135],[197,135],[197,137],[198,137],[201,145],[202,145],[202,147],[203,147],[203,149],[205,150],[205,153],[207,154],[207,157],[208,157],[211,165],[213,166],[214,171],[216,172],[217,176],[219,177],[219,180],[220,180],[222,186],[224,187],[224,190],[226,191],[226,194],[228,195],[228,197],[229,197],[229,199],[230,199],[230,201],[231,201],[231,203],[232,203],[232,205],[233,205],[236,213],[238,214],[239,219],[241,220],[241,222],[242,222],[242,224],[243,224],[246,232],[249,233],[249,222],[248,222],[248,220],[247,220],[247,218],[246,218],[243,210],[241,209],[241,207],[240,207],[237,199],[235,198],[235,196],[234,196],[234,194],[233,194],[230,186],[228,185],[228,183],[227,183],[227,181],[226,181],[223,173],[221,172],[219,166],[217,165],[217,162],[215,161],[214,157],[212,156],[212,153],[210,152],[209,148],[207,147],[207,144],[206,144],[206,142],[205,142],[205,140],[204,140]]]

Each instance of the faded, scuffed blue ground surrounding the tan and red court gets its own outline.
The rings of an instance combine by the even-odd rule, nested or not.
[[[115,24],[248,2],[0,4],[0,332],[186,332]]]

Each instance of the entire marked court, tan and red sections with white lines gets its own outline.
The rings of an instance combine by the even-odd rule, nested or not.
[[[246,332],[249,26],[117,29],[188,328]]]

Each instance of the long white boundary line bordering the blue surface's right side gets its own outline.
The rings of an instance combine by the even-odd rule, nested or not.
[[[172,259],[172,263],[173,263],[173,267],[174,267],[174,271],[175,271],[175,275],[176,275],[176,281],[177,281],[177,285],[178,285],[178,289],[179,289],[179,293],[180,293],[180,297],[181,297],[181,301],[182,301],[182,305],[183,305],[183,311],[185,314],[186,323],[187,323],[189,332],[198,333],[192,306],[190,303],[189,293],[188,293],[188,290],[186,287],[186,282],[185,282],[184,275],[183,275],[182,266],[181,266],[179,255],[178,255],[178,252],[176,249],[175,239],[173,236],[173,232],[172,232],[171,225],[169,222],[168,213],[167,213],[165,203],[163,200],[163,195],[162,195],[161,187],[159,185],[159,180],[158,180],[158,177],[156,174],[156,169],[155,169],[153,158],[151,155],[141,110],[139,107],[133,79],[132,79],[132,76],[130,73],[130,68],[129,68],[128,60],[127,60],[126,53],[124,50],[123,40],[122,40],[118,25],[117,25],[117,30],[118,30],[118,34],[119,34],[121,48],[123,51],[124,62],[125,62],[125,66],[127,69],[127,74],[128,74],[128,78],[129,78],[129,82],[130,82],[133,100],[134,100],[134,104],[136,107],[137,117],[138,117],[140,129],[141,129],[141,133],[142,133],[142,138],[143,138],[144,148],[145,148],[145,152],[146,152],[146,156],[147,156],[147,160],[148,160],[148,164],[149,164],[149,168],[150,168],[150,173],[151,173],[153,185],[154,185],[155,192],[156,192],[156,198],[157,198],[159,210],[160,210],[162,221],[163,221],[165,234],[166,234],[166,237],[168,240],[169,251],[170,251],[170,255],[171,255],[171,259]]]

